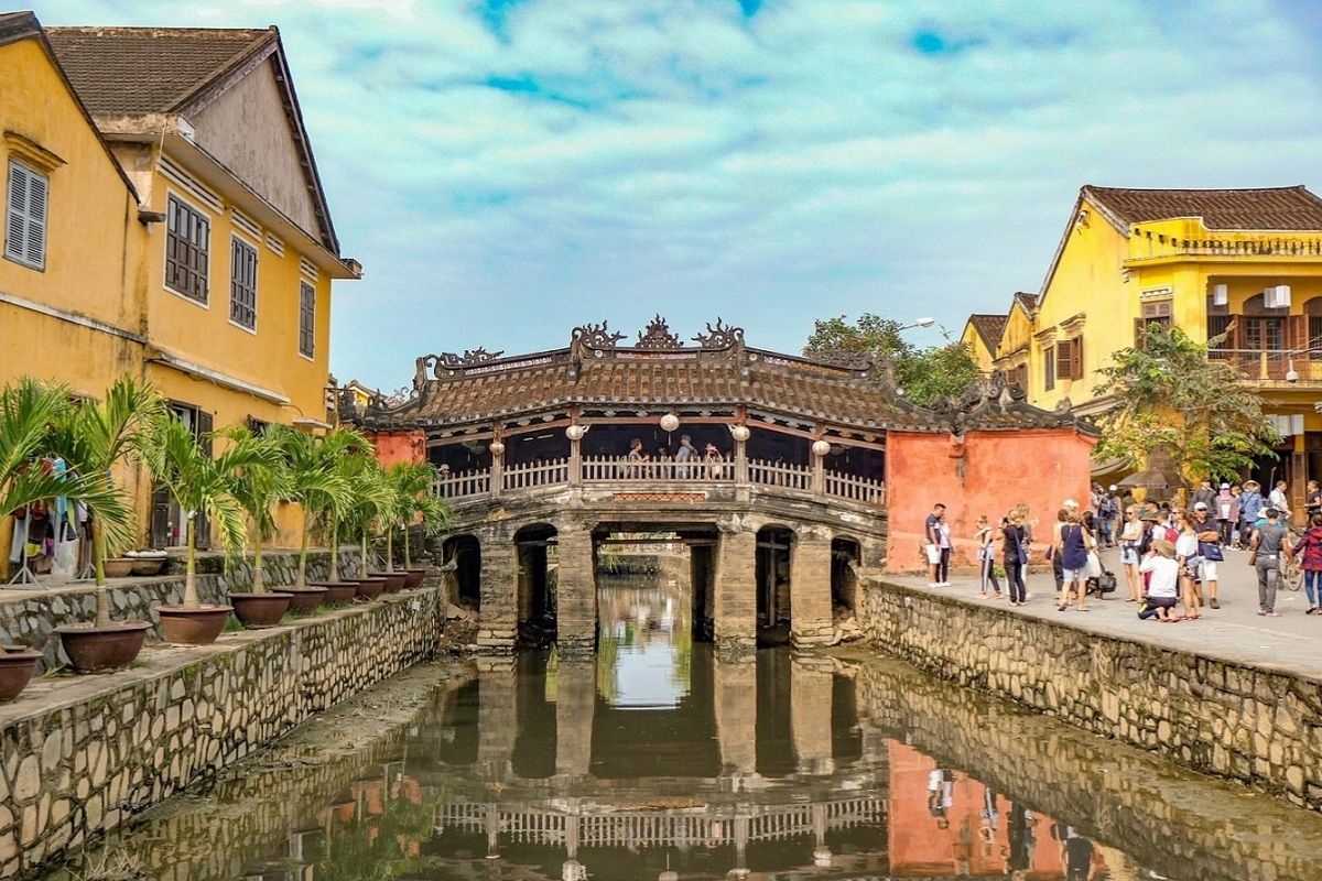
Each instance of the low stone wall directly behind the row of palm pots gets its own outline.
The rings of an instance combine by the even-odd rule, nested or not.
[[[358,572],[358,549],[340,551],[340,573],[352,577]],[[110,579],[110,616],[116,621],[160,622],[152,610],[157,604],[177,604],[184,600],[184,561],[172,559],[178,575],[153,579]],[[253,557],[245,556],[223,567],[222,555],[204,555],[198,560],[197,590],[202,602],[223,602],[230,590],[247,590],[253,585]],[[324,580],[330,572],[330,553],[308,553],[308,580]],[[299,573],[296,552],[267,552],[262,555],[262,580],[267,589],[293,584]],[[97,617],[97,588],[93,584],[30,590],[24,588],[0,589],[0,645],[20,645],[37,649],[42,654],[42,667],[53,668],[69,663],[59,646],[56,627],[79,623]],[[149,638],[159,639],[153,627]]]

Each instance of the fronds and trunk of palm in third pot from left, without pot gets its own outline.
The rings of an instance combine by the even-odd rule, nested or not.
[[[156,481],[164,486],[184,512],[184,520],[193,522],[197,514],[218,527],[221,546],[229,553],[243,548],[247,538],[243,506],[231,493],[231,481],[241,469],[260,465],[260,457],[251,449],[230,446],[215,458],[206,454],[193,435],[173,413],[157,423],[156,431],[143,445],[144,458]],[[197,593],[197,530],[188,530],[188,568],[184,580],[184,609],[202,605]]]

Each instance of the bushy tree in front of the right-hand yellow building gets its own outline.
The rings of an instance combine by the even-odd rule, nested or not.
[[[1224,361],[1207,357],[1224,338],[1195,342],[1179,328],[1149,324],[1121,349],[1093,390],[1114,399],[1100,419],[1099,461],[1138,465],[1162,452],[1185,479],[1231,478],[1281,441],[1263,399]]]

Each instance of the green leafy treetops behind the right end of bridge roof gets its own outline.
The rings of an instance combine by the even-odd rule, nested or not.
[[[863,313],[853,324],[845,316],[814,321],[804,355],[867,355],[876,365],[878,379],[886,376],[888,366],[904,396],[921,407],[962,398],[981,376],[973,353],[945,330],[944,345],[919,349],[904,339],[902,328],[899,321],[873,313]]]

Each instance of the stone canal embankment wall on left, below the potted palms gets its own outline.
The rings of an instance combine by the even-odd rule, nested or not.
[[[435,651],[432,589],[0,707],[0,878],[34,869]],[[110,683],[110,687],[107,687]]]

